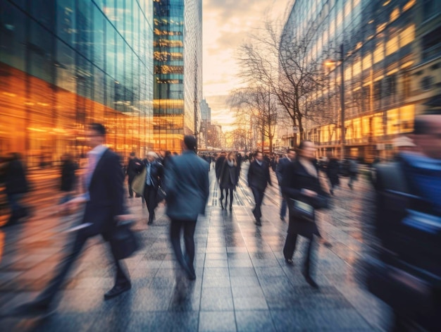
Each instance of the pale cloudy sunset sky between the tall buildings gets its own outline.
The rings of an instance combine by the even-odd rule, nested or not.
[[[234,117],[225,104],[240,86],[235,57],[240,45],[262,27],[266,18],[284,23],[294,0],[203,0],[204,98],[211,121],[231,130]]]

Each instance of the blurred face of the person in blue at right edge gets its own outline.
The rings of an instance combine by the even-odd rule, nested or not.
[[[416,145],[423,154],[434,159],[441,159],[441,115],[420,116],[423,121],[428,123],[428,133],[415,135]]]

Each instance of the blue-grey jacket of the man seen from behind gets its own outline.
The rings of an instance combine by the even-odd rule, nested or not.
[[[164,172],[166,214],[170,219],[197,220],[209,199],[209,164],[192,151],[167,162]]]

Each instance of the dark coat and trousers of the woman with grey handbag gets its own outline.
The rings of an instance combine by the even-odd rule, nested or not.
[[[313,164],[313,163],[312,163]],[[314,166],[316,166],[314,164]],[[306,171],[304,166],[298,161],[298,159],[285,168],[282,174],[282,194],[288,199],[298,199],[302,202],[306,202],[313,207],[318,207],[318,197],[307,197],[302,193],[302,189],[308,189],[316,192],[321,197],[326,196],[323,191],[320,181],[317,176],[312,176]],[[288,207],[292,202],[288,199]],[[313,245],[313,235],[320,235],[315,222],[305,221],[299,219],[298,216],[292,215],[290,211],[290,223],[287,231],[287,238],[285,241],[285,247],[283,248],[283,255],[285,259],[292,259],[294,250],[297,243],[297,235],[302,235],[305,238],[309,238],[309,246],[306,252],[305,259],[305,271],[309,274],[310,260],[311,260],[311,248]]]

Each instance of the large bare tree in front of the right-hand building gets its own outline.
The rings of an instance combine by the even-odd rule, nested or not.
[[[325,102],[317,104],[312,98],[327,85],[323,61],[314,60],[312,54],[316,35],[314,25],[299,36],[289,27],[280,31],[269,22],[250,42],[242,44],[239,52],[244,81],[271,91],[301,138],[306,136],[306,121],[323,123],[333,115]]]

